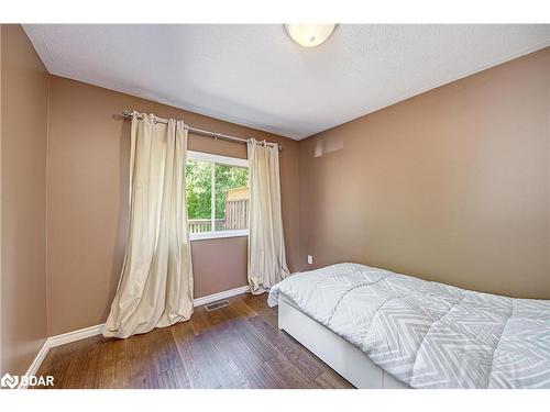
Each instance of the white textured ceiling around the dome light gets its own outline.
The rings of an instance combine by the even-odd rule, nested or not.
[[[24,25],[47,69],[300,140],[550,45],[550,25]],[[129,108],[131,109],[131,108]]]

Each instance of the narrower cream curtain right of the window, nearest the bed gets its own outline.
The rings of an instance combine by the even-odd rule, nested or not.
[[[278,147],[249,142],[249,285],[260,294],[286,278]]]

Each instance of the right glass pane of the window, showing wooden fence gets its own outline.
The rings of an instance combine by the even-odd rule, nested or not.
[[[216,165],[216,230],[249,227],[249,169]]]

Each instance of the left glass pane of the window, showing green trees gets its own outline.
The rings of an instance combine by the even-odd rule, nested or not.
[[[208,162],[187,159],[185,174],[189,233],[212,230],[212,167],[213,164]]]

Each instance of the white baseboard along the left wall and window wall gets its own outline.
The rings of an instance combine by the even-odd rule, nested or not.
[[[202,298],[194,299],[193,305],[194,307],[201,307],[204,304],[216,302],[217,300],[228,299],[228,298],[231,298],[231,297],[234,297],[238,294],[246,293],[248,291],[249,291],[249,286],[242,286],[240,288],[234,288],[234,289],[226,290],[223,292],[213,293],[213,294],[209,294],[209,296],[206,296]],[[79,329],[77,331],[67,332],[67,333],[63,333],[61,335],[48,337],[44,342],[44,344],[42,345],[42,347],[38,350],[38,353],[36,354],[36,356],[34,357],[25,376],[36,375],[40,366],[42,365],[42,361],[44,360],[48,350],[52,347],[56,347],[56,346],[72,343],[72,342],[85,339],[87,337],[100,335],[103,332],[103,327],[105,327],[105,323],[101,323],[99,325],[88,326],[88,327]],[[18,389],[26,389],[26,386],[20,385],[18,387]]]

